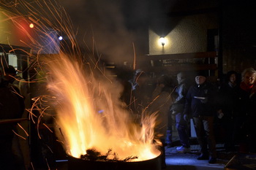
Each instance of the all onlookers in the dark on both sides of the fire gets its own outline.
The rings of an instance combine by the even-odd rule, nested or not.
[[[173,123],[181,142],[176,150],[181,153],[191,152],[189,123],[194,124],[201,148],[198,160],[217,162],[217,131],[222,134],[225,150],[256,152],[255,69],[244,69],[241,74],[227,72],[221,83],[208,81],[208,72],[202,71],[178,72],[176,81],[167,74],[160,75],[155,82],[148,83],[148,80],[146,72],[136,70],[130,80],[122,82],[121,100],[127,104],[135,123],[140,123],[145,112],[157,116],[154,138],[162,143],[163,168],[165,146],[172,145]],[[1,70],[0,119],[22,117],[27,89],[23,82],[13,66]],[[6,165],[14,159],[15,123],[0,124],[0,128],[0,161]]]

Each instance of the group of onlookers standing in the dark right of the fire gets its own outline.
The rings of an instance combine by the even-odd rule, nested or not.
[[[179,72],[177,82],[173,77],[161,75],[157,77],[154,90],[147,87],[147,79],[142,70],[135,72],[129,81],[130,100],[126,101],[135,117],[140,117],[145,109],[157,112],[155,138],[162,142],[162,152],[165,152],[165,145],[171,146],[172,123],[176,123],[181,142],[181,147],[176,147],[177,152],[190,152],[190,120],[201,148],[197,160],[217,162],[216,134],[222,134],[227,151],[256,152],[255,69],[244,69],[241,74],[227,72],[219,83],[208,81],[208,72],[204,71]],[[165,167],[165,161],[162,166]]]

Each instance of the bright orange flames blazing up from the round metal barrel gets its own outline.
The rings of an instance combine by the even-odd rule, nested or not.
[[[104,153],[112,149],[120,158],[137,155],[138,161],[159,155],[152,143],[154,118],[146,117],[142,126],[132,123],[116,98],[117,85],[97,80],[64,54],[45,63],[50,73],[48,88],[60,103],[56,106],[58,128],[63,133],[59,139],[69,155],[80,158],[91,148]]]

